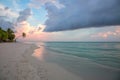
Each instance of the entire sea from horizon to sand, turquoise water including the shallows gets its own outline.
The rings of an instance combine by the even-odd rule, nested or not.
[[[56,63],[83,80],[120,80],[119,42],[45,42],[46,61]]]

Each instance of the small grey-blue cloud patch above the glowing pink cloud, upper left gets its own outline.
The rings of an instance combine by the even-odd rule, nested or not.
[[[26,8],[23,11],[19,12],[19,17],[17,18],[17,22],[26,21],[32,15],[31,9]]]

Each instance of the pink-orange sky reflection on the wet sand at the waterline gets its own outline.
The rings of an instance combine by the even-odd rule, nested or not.
[[[44,51],[44,47],[40,47],[34,50],[34,53],[32,54],[32,56],[34,56],[35,58],[39,60],[43,60],[43,51]]]

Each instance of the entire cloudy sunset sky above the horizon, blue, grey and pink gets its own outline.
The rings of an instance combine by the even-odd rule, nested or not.
[[[0,27],[25,41],[120,41],[120,0],[0,0]],[[26,38],[20,37],[22,32]]]

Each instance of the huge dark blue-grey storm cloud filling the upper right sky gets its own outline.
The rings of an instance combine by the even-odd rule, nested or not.
[[[52,3],[45,4],[48,12],[44,30],[46,32],[120,24],[119,0],[57,1],[64,7],[59,9]]]

